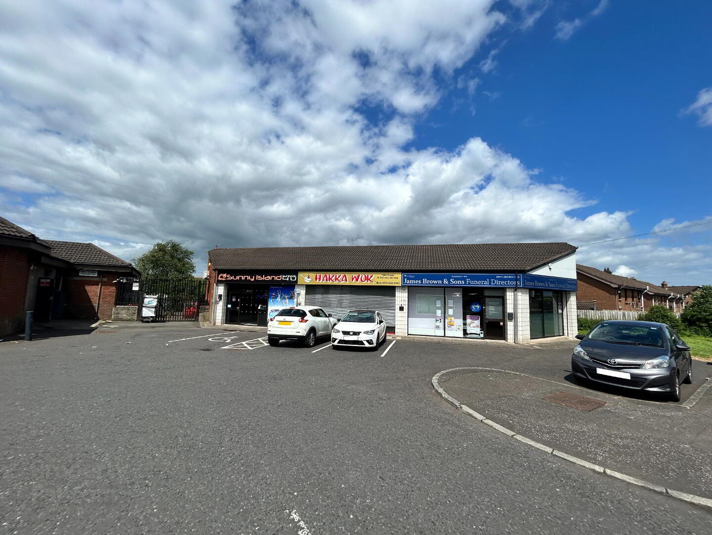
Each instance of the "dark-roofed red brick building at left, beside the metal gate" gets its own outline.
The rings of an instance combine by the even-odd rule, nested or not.
[[[138,271],[94,244],[42,240],[0,217],[0,336],[34,320],[111,318],[115,281]]]

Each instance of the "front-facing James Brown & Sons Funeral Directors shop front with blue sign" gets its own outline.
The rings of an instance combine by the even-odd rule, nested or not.
[[[506,289],[517,283],[516,274],[404,273],[408,334],[505,340]]]

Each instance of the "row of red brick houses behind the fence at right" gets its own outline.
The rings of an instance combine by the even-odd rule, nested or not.
[[[577,301],[580,307],[595,310],[647,311],[651,306],[682,309],[684,297],[670,288],[646,281],[614,275],[608,268],[596,269],[576,264]]]

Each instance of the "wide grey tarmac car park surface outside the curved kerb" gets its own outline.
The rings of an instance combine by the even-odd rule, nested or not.
[[[483,366],[565,387],[573,343],[403,338],[363,353],[185,324],[66,332],[0,343],[0,533],[679,535],[712,523],[511,440],[429,383]]]

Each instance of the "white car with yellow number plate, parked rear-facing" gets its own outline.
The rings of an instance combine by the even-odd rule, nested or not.
[[[336,320],[318,306],[282,308],[267,322],[267,341],[277,346],[283,340],[298,340],[311,348],[320,336],[329,336]]]

